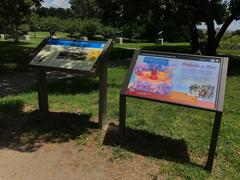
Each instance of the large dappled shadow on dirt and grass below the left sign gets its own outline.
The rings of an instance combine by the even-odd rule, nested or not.
[[[44,119],[38,111],[25,113],[22,108],[23,103],[17,100],[0,106],[1,149],[33,152],[44,143],[67,142],[98,128],[90,121],[91,114],[50,112]]]

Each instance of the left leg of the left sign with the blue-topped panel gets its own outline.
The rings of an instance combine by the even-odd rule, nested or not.
[[[46,117],[48,113],[48,96],[45,71],[39,70],[37,72],[37,91],[40,113],[43,117]]]

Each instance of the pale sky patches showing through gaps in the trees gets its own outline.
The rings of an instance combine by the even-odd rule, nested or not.
[[[44,0],[42,3],[42,6],[44,7],[55,7],[55,8],[69,8],[69,0]],[[217,26],[216,27],[221,27]],[[198,26],[199,29],[207,29],[206,25],[202,24]],[[239,21],[234,21],[232,24],[228,27],[228,30],[230,31],[235,31],[237,29],[240,29],[240,20]]]

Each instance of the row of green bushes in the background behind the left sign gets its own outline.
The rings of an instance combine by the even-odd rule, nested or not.
[[[115,38],[119,30],[111,26],[104,26],[98,19],[60,19],[56,17],[32,18],[28,24],[19,27],[21,32],[28,31],[61,31],[70,37],[102,35],[104,38]]]

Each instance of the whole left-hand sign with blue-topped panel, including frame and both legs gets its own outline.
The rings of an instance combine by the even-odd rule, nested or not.
[[[111,47],[112,40],[43,40],[32,53],[29,63],[32,68],[37,69],[40,113],[46,117],[49,112],[46,72],[63,71],[93,77],[99,75],[99,127],[103,128],[107,108],[107,64]]]

